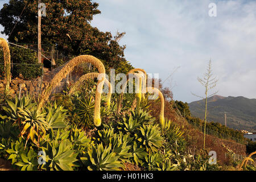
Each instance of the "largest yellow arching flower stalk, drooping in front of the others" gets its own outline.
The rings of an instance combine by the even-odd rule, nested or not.
[[[94,108],[94,117],[93,122],[95,126],[101,125],[101,117],[100,117],[100,106],[101,106],[101,93],[104,86],[104,80],[105,80],[105,67],[101,63],[100,60],[98,60],[94,56],[90,55],[81,55],[73,58],[70,60],[67,64],[64,65],[64,67],[52,78],[52,81],[47,85],[46,89],[43,90],[42,96],[40,97],[40,102],[38,105],[38,110],[42,109],[44,103],[48,100],[49,95],[51,94],[52,90],[56,87],[57,84],[63,78],[67,77],[69,72],[73,71],[73,68],[75,68],[77,65],[80,65],[82,63],[91,63],[94,65],[99,73],[102,74],[101,80],[98,80],[97,82],[97,89],[96,89],[96,96],[95,96],[95,108]]]

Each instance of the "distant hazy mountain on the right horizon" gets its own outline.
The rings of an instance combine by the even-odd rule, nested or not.
[[[204,118],[205,100],[188,104],[193,117]],[[212,96],[208,98],[207,121],[218,122],[232,129],[256,131],[256,99]]]

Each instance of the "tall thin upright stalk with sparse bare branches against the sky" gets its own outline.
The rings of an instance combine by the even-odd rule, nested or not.
[[[212,61],[209,61],[208,67],[207,67],[207,72],[204,73],[204,77],[203,78],[199,78],[197,77],[197,80],[200,82],[201,85],[204,86],[205,88],[205,97],[201,97],[201,96],[197,96],[196,94],[193,94],[196,97],[200,97],[203,98],[205,100],[205,115],[204,115],[204,147],[205,147],[205,126],[206,126],[206,121],[207,121],[207,99],[211,96],[213,96],[214,94],[218,93],[218,92],[214,92],[213,94],[210,94],[210,96],[208,96],[208,92],[210,89],[213,89],[216,84],[217,84],[217,78],[214,77],[212,78]]]

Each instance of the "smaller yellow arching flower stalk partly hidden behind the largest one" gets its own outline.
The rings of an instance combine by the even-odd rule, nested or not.
[[[76,81],[75,84],[73,84],[73,86],[69,90],[69,93],[68,93],[69,96],[71,96],[75,92],[75,90],[79,87],[79,85],[82,84],[82,82],[84,80],[89,80],[89,79],[92,79],[92,78],[100,79],[100,73],[87,73],[87,74],[81,76],[79,78],[79,80]],[[108,88],[109,88],[109,92],[108,92],[107,99],[106,99],[106,106],[109,108],[110,107],[111,96],[112,96],[112,93],[113,93],[113,88],[112,88],[112,85],[110,84],[110,82],[108,81],[108,79],[106,79],[106,77],[105,77],[104,83],[106,85],[108,85]]]

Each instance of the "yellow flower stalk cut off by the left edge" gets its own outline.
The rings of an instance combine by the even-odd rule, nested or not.
[[[3,38],[0,38],[0,47],[3,48],[3,60],[5,61],[5,96],[7,96],[11,82],[11,55],[8,43]]]

